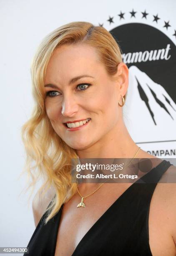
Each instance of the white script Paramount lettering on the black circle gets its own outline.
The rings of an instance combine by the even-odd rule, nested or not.
[[[159,59],[170,59],[171,55],[168,56],[170,50],[170,44],[166,46],[166,49],[158,49],[151,51],[139,51],[139,52],[128,52],[127,54],[122,54],[123,62],[126,63],[136,63],[136,62],[146,62],[146,61],[156,61]]]

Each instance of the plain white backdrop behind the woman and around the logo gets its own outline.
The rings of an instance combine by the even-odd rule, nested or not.
[[[18,180],[23,169],[24,150],[20,128],[30,117],[33,106],[30,86],[30,62],[43,37],[71,21],[104,23],[109,16],[122,12],[137,14],[146,10],[148,24],[158,13],[171,27],[167,36],[174,41],[176,29],[175,0],[1,0],[0,1],[0,103],[1,103],[1,179],[0,179],[0,247],[27,246],[35,229],[32,205],[28,195],[19,196],[25,177]],[[118,19],[119,24],[127,22]],[[128,20],[129,22],[129,20]],[[143,19],[143,22],[146,22]],[[117,26],[117,24],[116,24]],[[163,30],[166,28],[162,28]],[[176,41],[176,40],[175,40]],[[128,117],[128,113],[126,112]],[[131,131],[133,134],[133,131]],[[134,140],[135,141],[135,140]],[[137,142],[137,141],[135,141]],[[173,141],[163,147],[173,146]],[[140,145],[148,150],[148,145]],[[153,149],[157,148],[153,145]],[[172,156],[173,157],[173,156]]]

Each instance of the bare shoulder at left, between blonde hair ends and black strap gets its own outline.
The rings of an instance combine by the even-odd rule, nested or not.
[[[55,191],[53,187],[50,187],[44,195],[41,195],[41,193],[42,191],[40,193],[39,191],[37,191],[32,202],[35,226],[38,225],[45,210],[47,209],[49,203],[51,202],[51,200],[55,195]]]

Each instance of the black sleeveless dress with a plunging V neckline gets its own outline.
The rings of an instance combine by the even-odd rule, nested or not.
[[[161,161],[128,187],[83,236],[72,256],[152,256],[148,233],[151,197],[171,165]],[[45,214],[42,216],[27,246],[29,256],[55,255],[62,209],[63,205],[46,225],[42,221]]]

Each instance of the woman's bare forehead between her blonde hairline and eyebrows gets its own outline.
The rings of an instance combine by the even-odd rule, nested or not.
[[[52,79],[66,80],[81,74],[92,76],[102,72],[104,65],[100,62],[96,49],[88,45],[63,45],[55,49],[48,63],[45,82]],[[66,80],[65,80],[66,79]],[[49,82],[49,81],[48,81]]]

